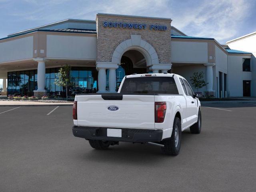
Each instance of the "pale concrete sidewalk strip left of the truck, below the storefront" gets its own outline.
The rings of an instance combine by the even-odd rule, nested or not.
[[[72,106],[70,103],[45,103],[45,102],[32,102],[32,101],[0,101],[1,106]]]

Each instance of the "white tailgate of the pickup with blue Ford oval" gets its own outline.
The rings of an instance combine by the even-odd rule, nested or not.
[[[78,95],[78,126],[155,128],[154,95],[122,95],[121,99],[104,100],[100,94]]]

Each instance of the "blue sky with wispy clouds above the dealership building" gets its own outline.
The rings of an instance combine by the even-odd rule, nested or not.
[[[221,44],[256,31],[255,0],[0,0],[0,38],[67,18],[95,20],[98,12],[171,18],[188,36]]]

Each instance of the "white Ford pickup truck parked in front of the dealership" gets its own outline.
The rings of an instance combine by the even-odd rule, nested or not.
[[[182,76],[133,74],[123,78],[118,93],[77,94],[72,131],[95,149],[123,141],[154,144],[177,155],[182,131],[201,131],[200,108]]]

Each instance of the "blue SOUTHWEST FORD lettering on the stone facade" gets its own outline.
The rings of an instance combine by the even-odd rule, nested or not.
[[[150,30],[159,30],[165,31],[167,30],[167,26],[165,25],[147,25],[147,24],[139,24],[139,23],[120,23],[120,22],[103,22],[104,27],[114,27],[114,28],[128,28],[128,29],[146,29]]]

